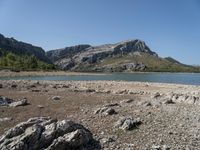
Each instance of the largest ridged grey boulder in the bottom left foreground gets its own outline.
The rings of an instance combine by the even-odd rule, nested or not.
[[[71,120],[36,117],[6,131],[0,137],[0,149],[78,150],[86,149],[92,140],[89,130]]]

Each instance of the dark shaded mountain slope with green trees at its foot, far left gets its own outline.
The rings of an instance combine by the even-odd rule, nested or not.
[[[6,38],[0,34],[0,68],[50,69],[51,60],[41,47]]]

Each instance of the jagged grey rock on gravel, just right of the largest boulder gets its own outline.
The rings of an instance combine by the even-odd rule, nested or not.
[[[136,128],[141,123],[140,118],[122,117],[115,123],[115,127],[127,131]]]

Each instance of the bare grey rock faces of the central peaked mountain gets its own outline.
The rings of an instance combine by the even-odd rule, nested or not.
[[[112,69],[115,69],[115,65],[107,67],[101,66],[99,68],[91,68],[91,65],[100,63],[106,58],[114,58],[116,56],[125,56],[129,54],[140,55],[140,52],[157,57],[157,54],[151,51],[141,40],[129,40],[101,46],[77,45],[66,47],[65,49],[51,50],[47,52],[47,56],[64,70],[81,71],[81,69],[85,69],[82,68],[82,65],[90,65],[88,69],[92,69],[93,71],[105,71],[106,69],[112,71]],[[117,67],[119,67],[119,65],[117,65]],[[144,70],[145,68],[146,66],[142,62],[122,63],[120,65],[120,69],[122,70]]]

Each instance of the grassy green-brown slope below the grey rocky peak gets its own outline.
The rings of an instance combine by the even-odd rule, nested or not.
[[[107,65],[119,66],[123,63],[140,63],[142,62],[146,72],[200,72],[200,67],[184,65],[179,62],[170,61],[168,59],[157,56],[140,53],[141,55],[119,55],[111,58],[106,58],[102,62],[95,64],[96,67]],[[117,70],[118,72],[122,70]]]

